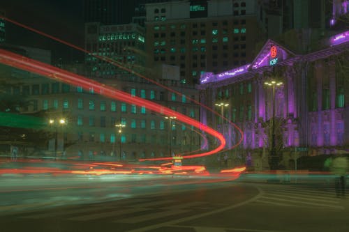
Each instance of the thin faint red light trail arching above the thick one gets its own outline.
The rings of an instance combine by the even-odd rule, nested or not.
[[[67,45],[68,47],[72,47],[72,48],[74,48],[74,49],[77,49],[78,51],[84,52],[85,54],[89,54],[89,55],[91,55],[91,56],[94,56],[94,57],[97,58],[97,59],[101,59],[101,60],[103,60],[103,61],[105,61],[105,62],[107,62],[107,63],[110,63],[111,65],[114,65],[114,66],[117,66],[118,68],[121,68],[121,69],[123,69],[123,70],[126,70],[127,72],[130,72],[130,73],[132,73],[133,75],[136,75],[136,76],[138,76],[138,77],[141,77],[141,78],[143,78],[143,79],[146,79],[148,82],[151,82],[151,83],[153,83],[153,84],[156,84],[156,85],[160,86],[161,88],[164,88],[164,89],[166,89],[166,90],[168,90],[168,91],[170,91],[170,92],[172,92],[172,93],[176,93],[177,95],[182,95],[182,94],[179,93],[178,91],[174,91],[172,88],[169,88],[168,86],[164,86],[163,84],[160,84],[160,83],[154,81],[153,79],[149,79],[149,78],[145,77],[144,75],[140,75],[140,73],[138,73],[138,72],[134,72],[134,71],[131,70],[130,68],[126,68],[126,67],[124,66],[124,64],[119,63],[118,61],[114,61],[114,60],[112,60],[112,59],[110,59],[110,58],[107,58],[107,57],[105,57],[105,56],[98,56],[98,55],[94,54],[94,53],[91,52],[91,51],[88,51],[88,50],[86,50],[86,49],[83,49],[82,47],[78,47],[78,46],[76,46],[76,45],[71,44],[70,42],[66,42],[65,40],[61,40],[61,39],[59,39],[59,38],[56,38],[56,37],[54,37],[54,36],[51,36],[51,35],[49,35],[49,34],[47,34],[47,33],[44,33],[43,31],[38,31],[38,30],[36,30],[36,29],[34,29],[34,28],[30,27],[30,26],[27,26],[27,25],[22,24],[22,23],[20,23],[20,22],[16,22],[15,20],[10,20],[10,19],[7,18],[7,17],[0,16],[0,19],[6,20],[7,22],[10,22],[10,23],[15,24],[15,25],[17,25],[17,26],[20,26],[20,27],[22,27],[22,28],[24,28],[24,29],[27,29],[27,30],[29,30],[29,31],[33,31],[34,33],[38,33],[38,34],[40,34],[41,36],[45,36],[45,37],[47,37],[47,38],[50,38],[50,39],[55,40],[55,41],[57,41],[57,42],[60,42],[60,43],[62,43],[62,44],[64,44],[64,45]],[[238,131],[239,134],[240,134],[239,141],[237,141],[237,143],[236,143],[234,146],[231,146],[228,150],[230,150],[230,149],[232,149],[232,148],[235,148],[235,147],[239,146],[239,144],[242,143],[242,140],[244,139],[244,132],[242,132],[242,130],[241,130],[237,125],[235,125],[235,123],[232,123],[232,121],[229,121],[228,118],[225,118],[223,115],[219,114],[217,111],[214,111],[214,110],[211,109],[210,107],[207,107],[206,105],[203,105],[203,104],[201,104],[200,102],[198,102],[198,101],[196,101],[196,100],[194,100],[194,99],[192,99],[192,98],[189,98],[189,97],[187,97],[187,98],[188,98],[188,100],[191,100],[191,102],[194,102],[195,104],[200,105],[201,107],[207,109],[208,111],[211,111],[211,112],[214,113],[216,116],[221,116],[221,118],[223,118],[223,120],[227,121],[230,125],[232,125],[232,127],[235,127],[235,129],[237,129],[237,131]],[[199,129],[201,129],[201,128],[199,128]],[[152,158],[152,159],[147,159],[147,160],[156,160],[156,159]]]

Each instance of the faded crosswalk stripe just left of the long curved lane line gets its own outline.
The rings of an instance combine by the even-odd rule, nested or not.
[[[153,213],[147,213],[144,215],[136,216],[136,217],[127,217],[125,219],[119,219],[114,222],[121,222],[121,223],[139,223],[139,222],[145,222],[152,219],[158,219],[161,217],[168,217],[173,215],[181,215],[184,212],[189,212],[190,210],[170,210],[163,211],[163,212],[153,212]]]

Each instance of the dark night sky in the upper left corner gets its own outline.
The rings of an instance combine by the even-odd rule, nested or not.
[[[0,9],[5,10],[6,17],[11,20],[80,47],[84,44],[83,0],[2,0]],[[57,42],[18,29],[11,24],[6,27],[7,42],[57,50],[58,54],[53,51],[54,58],[63,56],[64,59],[75,59],[70,57],[70,49],[65,49]]]

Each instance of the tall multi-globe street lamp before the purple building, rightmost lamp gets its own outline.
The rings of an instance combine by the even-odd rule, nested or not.
[[[276,155],[275,148],[275,88],[281,86],[283,82],[276,82],[274,80],[265,82],[265,86],[272,88],[272,148],[270,149],[269,164],[270,169],[274,170],[279,166],[279,156]]]

